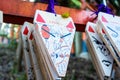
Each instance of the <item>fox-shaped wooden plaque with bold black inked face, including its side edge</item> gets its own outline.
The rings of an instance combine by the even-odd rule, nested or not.
[[[113,67],[113,58],[106,48],[103,41],[100,39],[96,31],[96,25],[88,22],[86,25],[86,33],[88,40],[88,48],[92,47],[91,53],[93,60],[95,60],[96,69],[100,75],[101,80],[110,79]]]

